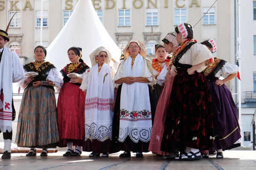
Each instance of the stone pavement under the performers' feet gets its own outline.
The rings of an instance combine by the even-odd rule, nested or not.
[[[40,154],[26,157],[26,153],[13,153],[10,160],[0,159],[0,170],[256,170],[256,151],[228,150],[224,159],[198,161],[168,161],[154,154],[144,153],[144,158],[119,158],[119,153],[108,158],[89,158],[89,152],[81,156],[63,157],[64,150],[49,153],[47,157]],[[0,154],[1,156],[1,154]]]

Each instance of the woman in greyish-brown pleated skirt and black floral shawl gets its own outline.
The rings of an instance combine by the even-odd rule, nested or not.
[[[25,72],[36,72],[34,78],[20,81],[25,88],[20,104],[15,142],[19,147],[31,147],[26,156],[36,156],[35,148],[43,148],[41,156],[47,156],[47,148],[56,147],[59,142],[55,90],[63,81],[55,66],[45,61],[46,49],[38,45],[35,62],[24,65]]]

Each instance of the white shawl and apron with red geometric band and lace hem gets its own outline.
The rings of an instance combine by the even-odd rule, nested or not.
[[[104,63],[98,73],[96,64],[86,71],[80,89],[86,91],[85,97],[85,141],[97,139],[101,142],[112,140],[114,101],[113,71]]]

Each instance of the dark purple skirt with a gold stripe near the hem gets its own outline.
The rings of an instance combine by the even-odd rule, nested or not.
[[[208,86],[212,95],[212,117],[214,150],[232,149],[241,146],[235,144],[240,138],[240,127],[238,122],[237,107],[232,98],[232,94],[227,86],[215,85],[215,81],[208,81]]]

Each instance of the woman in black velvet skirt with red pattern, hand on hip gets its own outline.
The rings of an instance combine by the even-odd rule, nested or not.
[[[194,30],[181,23],[175,28],[181,47],[175,54],[171,76],[175,76],[169,99],[161,150],[179,148],[176,159],[202,159],[199,150],[212,147],[212,99],[203,70],[210,51],[192,40]],[[185,149],[186,148],[186,149]]]

